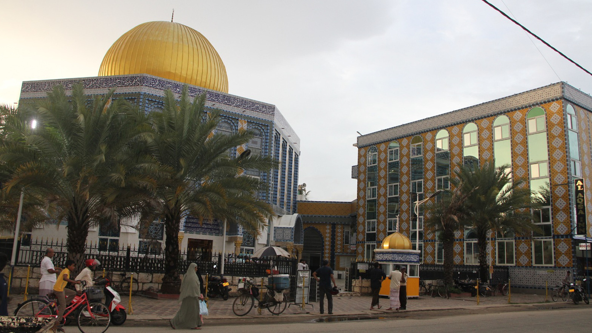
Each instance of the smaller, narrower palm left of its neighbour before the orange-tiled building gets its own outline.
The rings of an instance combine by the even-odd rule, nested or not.
[[[463,193],[461,187],[462,184],[457,183],[452,190],[443,190],[436,196],[436,202],[427,205],[424,220],[425,225],[435,231],[438,240],[442,242],[444,281],[448,286],[454,284],[454,233],[463,228],[464,202],[471,195]]]

